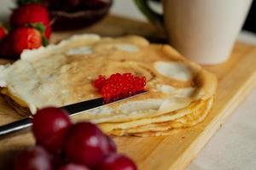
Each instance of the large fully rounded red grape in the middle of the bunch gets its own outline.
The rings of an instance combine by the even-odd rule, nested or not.
[[[108,139],[96,125],[79,122],[70,127],[64,151],[70,161],[94,167],[108,155]]]

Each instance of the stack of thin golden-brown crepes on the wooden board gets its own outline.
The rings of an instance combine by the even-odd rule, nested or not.
[[[26,50],[0,66],[1,94],[21,115],[101,97],[91,84],[99,75],[131,72],[147,79],[148,93],[84,111],[113,135],[157,136],[202,122],[212,108],[216,77],[169,45],[143,37],[71,37],[47,48]],[[77,117],[77,118],[78,118]]]

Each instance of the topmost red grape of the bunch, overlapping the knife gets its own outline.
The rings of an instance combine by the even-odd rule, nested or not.
[[[58,153],[71,121],[65,111],[54,107],[41,109],[32,119],[32,131],[37,144],[52,153]]]

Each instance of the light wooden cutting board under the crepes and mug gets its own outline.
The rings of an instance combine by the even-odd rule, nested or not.
[[[73,33],[95,32],[102,36],[138,34],[150,40],[160,41],[164,33],[147,23],[109,16],[96,26],[73,32],[55,33],[52,42]],[[8,60],[0,59],[0,64]],[[195,158],[207,141],[231,115],[237,105],[250,92],[256,82],[256,47],[236,42],[230,59],[221,65],[205,66],[218,77],[215,104],[207,119],[172,135],[154,138],[120,137],[114,140],[119,151],[131,156],[142,170],[184,169]],[[14,110],[0,98],[0,125],[20,119]],[[11,167],[15,154],[34,144],[32,133],[25,131],[0,139],[0,169]]]

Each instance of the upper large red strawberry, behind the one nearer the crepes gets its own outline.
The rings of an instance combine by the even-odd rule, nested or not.
[[[47,28],[45,37],[49,38],[51,27],[49,25],[49,13],[47,8],[39,3],[28,3],[16,8],[11,14],[12,26],[26,26],[29,23],[42,23]]]

